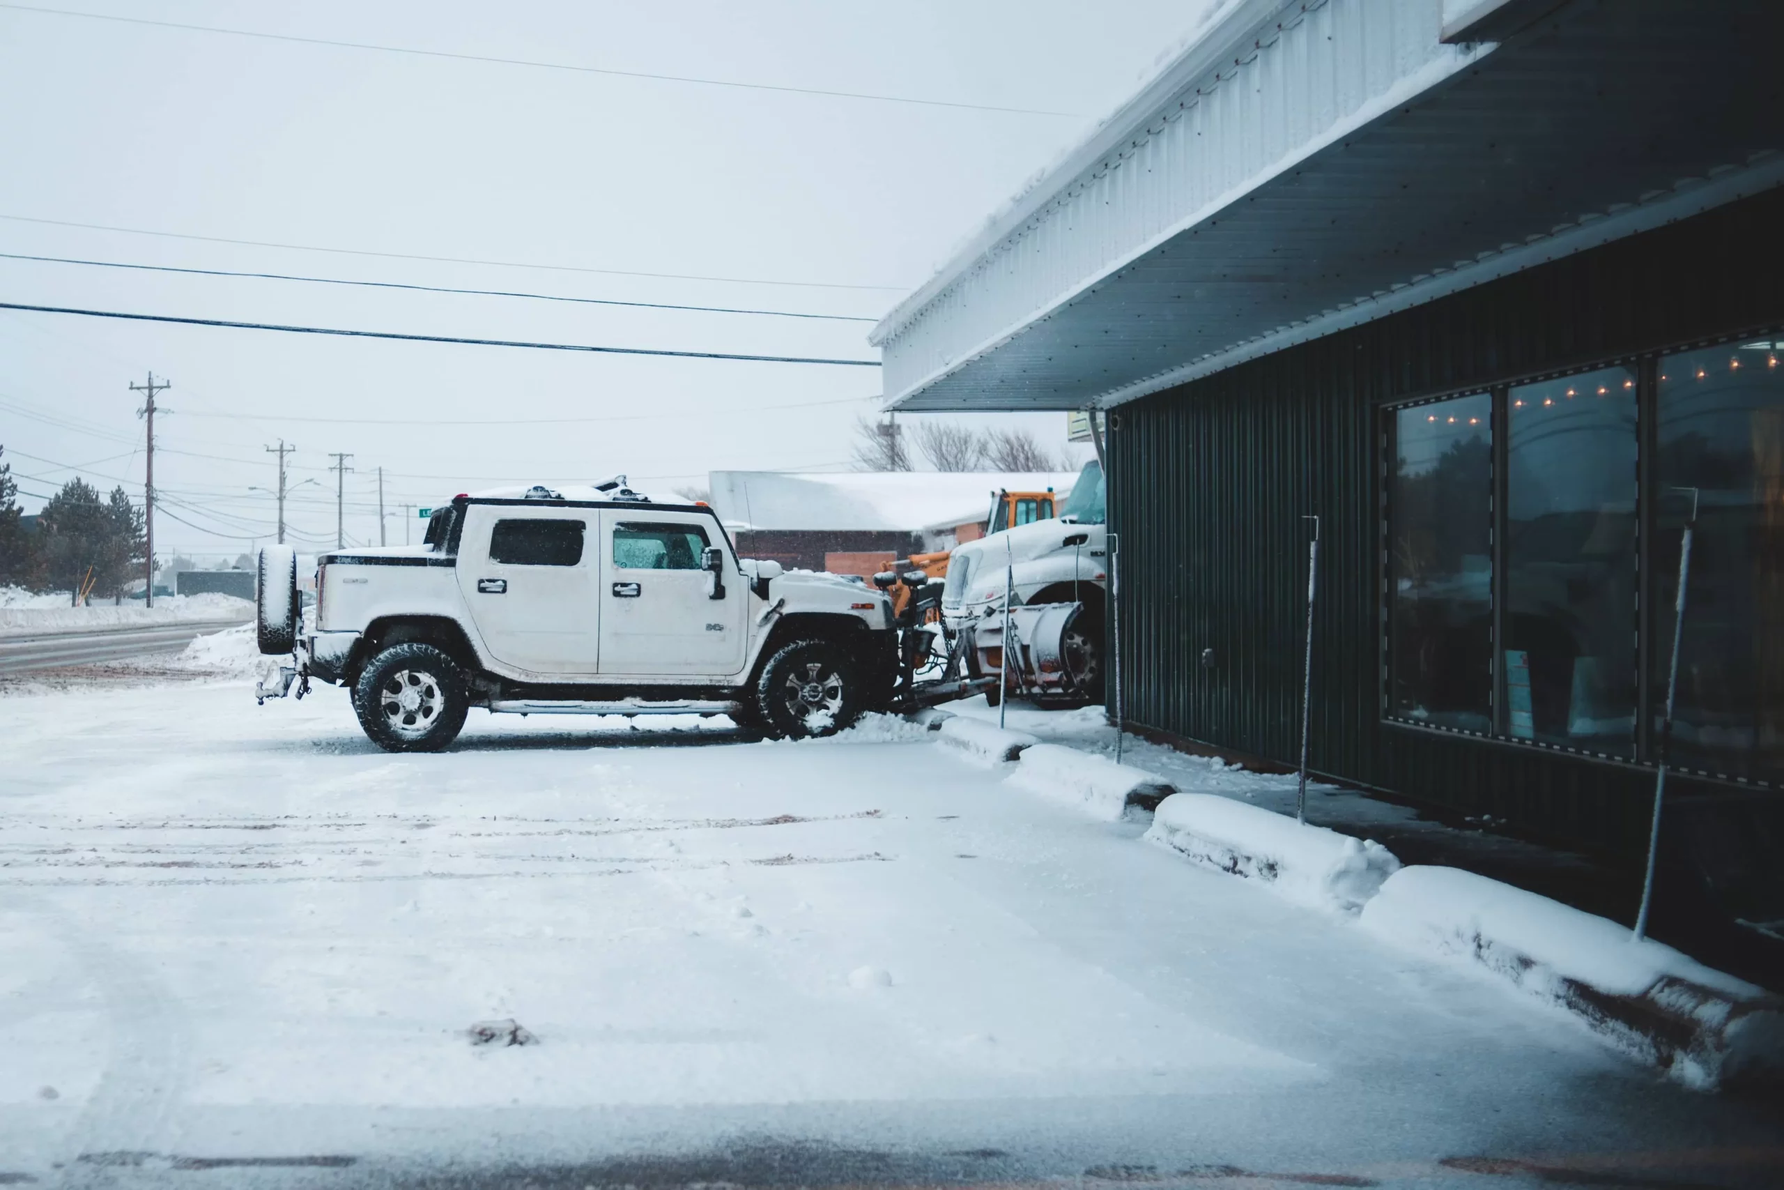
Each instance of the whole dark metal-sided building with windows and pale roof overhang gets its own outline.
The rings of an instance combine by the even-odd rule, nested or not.
[[[1775,874],[1780,43],[1768,0],[1242,0],[887,316],[887,394],[1110,412],[1131,723],[1295,758],[1318,516],[1313,767],[1607,853],[1695,491],[1670,846]]]

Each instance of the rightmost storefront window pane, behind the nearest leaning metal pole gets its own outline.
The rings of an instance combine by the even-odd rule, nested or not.
[[[1664,714],[1679,539],[1698,521],[1679,642],[1673,756],[1748,780],[1784,776],[1784,343],[1730,343],[1659,362],[1652,642]]]

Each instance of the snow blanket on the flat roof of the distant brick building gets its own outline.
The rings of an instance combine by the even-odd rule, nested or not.
[[[983,521],[992,492],[1072,491],[1076,471],[714,471],[726,528],[917,532]]]

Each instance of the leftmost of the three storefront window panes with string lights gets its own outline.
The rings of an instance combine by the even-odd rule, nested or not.
[[[1491,730],[1493,398],[1393,414],[1388,714]]]

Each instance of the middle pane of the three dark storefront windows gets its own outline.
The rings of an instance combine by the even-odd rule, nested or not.
[[[1636,369],[1513,387],[1500,731],[1632,756]]]

